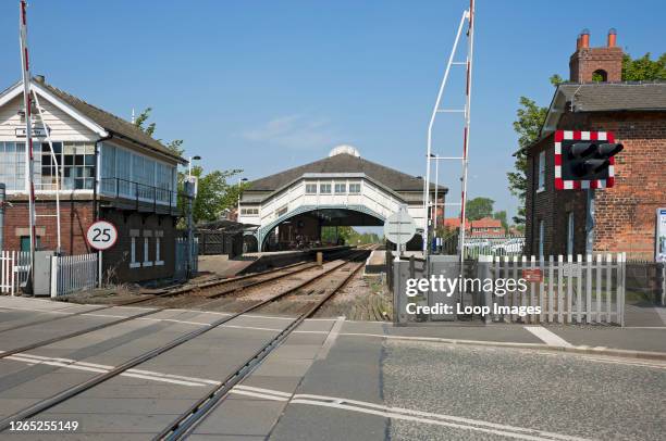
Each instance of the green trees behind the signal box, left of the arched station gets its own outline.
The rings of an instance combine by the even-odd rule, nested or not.
[[[141,129],[146,135],[153,136],[157,128],[156,123],[148,125],[151,108],[144,110],[135,119],[134,125]],[[182,139],[174,139],[164,142],[158,139],[174,154],[182,156],[185,152]],[[192,174],[197,177],[197,197],[193,203],[193,219],[196,223],[211,222],[220,218],[222,212],[226,209],[236,206],[238,194],[247,188],[247,182],[237,184],[230,182],[230,178],[243,173],[243,169],[234,168],[226,171],[214,171],[206,174],[203,167],[195,166],[192,168]],[[185,173],[178,172],[178,188],[183,188]],[[178,206],[183,201],[178,198]]]

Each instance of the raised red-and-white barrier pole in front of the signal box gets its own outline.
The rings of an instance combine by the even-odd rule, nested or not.
[[[35,164],[33,155],[33,112],[30,109],[30,63],[28,58],[27,48],[27,16],[26,16],[26,1],[20,1],[21,16],[18,20],[18,26],[21,29],[21,71],[23,75],[23,102],[25,106],[25,140],[26,140],[26,165],[27,165],[27,184],[28,184],[28,213],[29,213],[29,230],[30,230],[30,274],[29,274],[29,286],[33,288],[35,282]]]

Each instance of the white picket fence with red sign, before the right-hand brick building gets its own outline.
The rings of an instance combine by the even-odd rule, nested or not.
[[[625,324],[626,254],[563,255],[547,260],[531,256],[479,257],[494,279],[526,278],[528,290],[515,289],[493,301],[505,306],[541,306],[541,313],[493,316],[494,320],[560,324]],[[527,270],[527,273],[526,273]]]

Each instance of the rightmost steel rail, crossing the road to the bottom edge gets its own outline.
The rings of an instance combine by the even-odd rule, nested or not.
[[[351,262],[350,262],[351,263]],[[342,282],[337,284],[329,293],[321,298],[308,311],[300,314],[297,318],[287,325],[278,336],[271,341],[261,346],[252,356],[247,358],[240,364],[232,374],[230,374],[219,386],[211,390],[206,396],[199,399],[193,404],[186,412],[184,412],[178,418],[170,424],[164,430],[157,434],[153,440],[178,440],[189,434],[198,423],[202,421],[205,417],[227,395],[229,391],[242,381],[247,375],[250,374],[251,369],[259,364],[268,354],[270,354],[278,345],[288,337],[308,317],[311,317],[319,308],[329,301],[333,295],[337,293],[347,282],[363,267],[365,261],[357,263],[354,270],[349,272]]]

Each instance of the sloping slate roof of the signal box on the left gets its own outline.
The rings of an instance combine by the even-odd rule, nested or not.
[[[102,127],[106,131],[115,135],[120,138],[126,138],[130,141],[138,143],[139,146],[148,150],[153,150],[158,153],[170,156],[182,164],[187,163],[185,159],[178,156],[177,154],[174,154],[164,144],[145,134],[141,129],[136,127],[131,122],[115,116],[107,111],[103,111],[79,98],[74,97],[73,94],[65,92],[64,90],[60,90],[59,88],[53,87],[45,81],[38,80],[37,78],[34,78],[33,80],[36,85],[44,87],[50,93],[54,94],[67,105],[76,110],[78,113],[92,121],[98,126]],[[20,84],[22,84],[22,81],[17,81],[13,86],[3,90],[2,92],[0,92],[0,96],[4,94],[7,91],[13,89]]]

